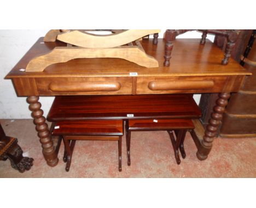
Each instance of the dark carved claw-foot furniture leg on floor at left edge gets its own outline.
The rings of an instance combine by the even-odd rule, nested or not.
[[[0,160],[9,159],[11,167],[24,173],[25,170],[30,170],[34,160],[31,157],[23,157],[22,153],[18,139],[6,136],[0,124]]]

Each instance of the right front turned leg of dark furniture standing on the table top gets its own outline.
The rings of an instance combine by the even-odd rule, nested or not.
[[[232,29],[228,36],[228,44],[226,44],[226,49],[224,53],[224,59],[222,60],[222,64],[226,65],[229,63],[229,57],[231,57],[231,52],[236,45],[236,40],[238,38],[238,34],[240,30]]]

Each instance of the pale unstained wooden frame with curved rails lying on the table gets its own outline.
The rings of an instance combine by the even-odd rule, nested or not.
[[[67,46],[55,47],[49,53],[31,59],[26,71],[43,71],[51,64],[65,63],[77,58],[122,58],[147,68],[157,68],[158,61],[145,53],[138,39],[158,32],[160,30],[157,29],[128,29],[110,35],[95,35],[80,30],[56,32],[56,40],[65,42]],[[46,34],[44,41],[54,40],[48,36],[52,37],[53,34]],[[156,42],[157,40],[154,41]]]

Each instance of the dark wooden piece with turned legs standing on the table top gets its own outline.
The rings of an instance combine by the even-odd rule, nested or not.
[[[165,45],[165,66],[170,66],[170,59],[173,49],[173,42],[176,39],[176,36],[183,34],[185,32],[191,31],[193,29],[167,29],[165,33],[166,45]],[[201,45],[204,45],[206,42],[207,33],[216,34],[216,35],[223,35],[228,38],[228,44],[226,46],[226,50],[224,53],[224,59],[222,60],[222,64],[226,65],[229,63],[229,57],[231,56],[231,51],[235,46],[235,42],[237,40],[237,36],[240,30],[216,30],[216,29],[199,29],[202,34],[202,39],[200,41]]]

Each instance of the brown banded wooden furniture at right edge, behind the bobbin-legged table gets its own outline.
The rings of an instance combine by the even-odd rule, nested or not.
[[[246,77],[238,93],[234,93],[230,97],[220,127],[219,135],[221,137],[245,138],[256,136],[256,43],[254,41],[256,30],[251,31],[251,34],[251,38],[247,40],[245,45],[244,55],[247,58],[242,56],[241,60],[243,60],[245,68],[252,72],[252,76]]]

